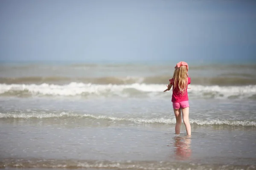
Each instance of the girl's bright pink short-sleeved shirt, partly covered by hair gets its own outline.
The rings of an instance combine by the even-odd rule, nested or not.
[[[173,85],[173,79],[169,79],[170,83]],[[191,78],[188,77],[188,85],[191,83]],[[176,86],[176,88],[172,89],[172,102],[183,102],[183,101],[188,101],[189,100],[189,96],[188,96],[188,91],[186,89],[185,93],[182,95],[179,92],[179,87]]]

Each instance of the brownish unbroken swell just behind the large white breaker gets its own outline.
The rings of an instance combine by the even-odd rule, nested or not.
[[[1,84],[68,84],[71,82],[92,83],[99,85],[130,85],[134,83],[144,84],[168,84],[169,76],[153,77],[0,77]],[[251,74],[223,74],[220,77],[193,77],[194,85],[256,85],[256,77]]]

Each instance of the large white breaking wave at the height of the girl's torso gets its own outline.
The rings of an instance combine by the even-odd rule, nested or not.
[[[236,99],[256,96],[256,85],[247,86],[203,86],[189,85],[189,97]],[[170,96],[172,91],[163,93],[166,84],[139,84],[131,85],[99,85],[91,83],[72,82],[67,85],[55,84],[0,84],[0,96],[119,96],[119,97],[153,97]]]

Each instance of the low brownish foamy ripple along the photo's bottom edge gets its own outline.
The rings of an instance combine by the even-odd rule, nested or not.
[[[104,168],[132,170],[179,170],[179,169],[247,169],[253,170],[255,165],[244,164],[199,164],[180,161],[99,161],[99,160],[59,160],[59,159],[2,159],[0,168]]]

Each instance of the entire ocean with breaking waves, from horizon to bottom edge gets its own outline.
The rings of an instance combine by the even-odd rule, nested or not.
[[[256,169],[256,65],[189,64],[175,134],[175,62],[1,63],[0,168]]]

